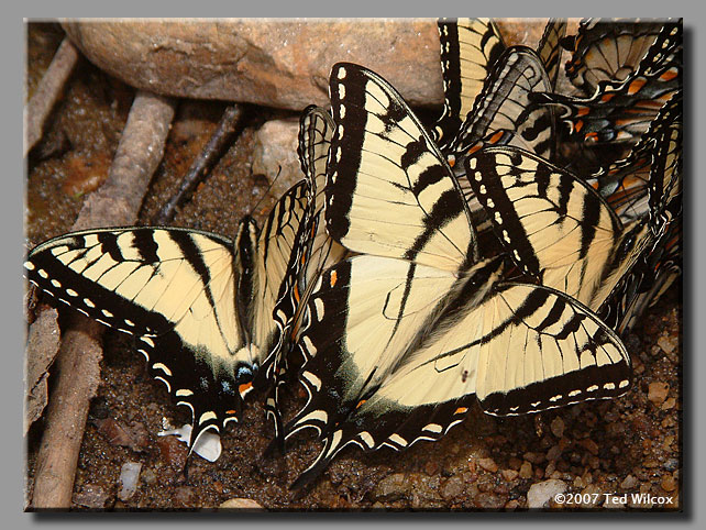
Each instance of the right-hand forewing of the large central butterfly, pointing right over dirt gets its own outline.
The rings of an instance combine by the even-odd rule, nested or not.
[[[545,287],[504,284],[484,308],[476,393],[493,415],[625,394],[630,356],[589,309]]]

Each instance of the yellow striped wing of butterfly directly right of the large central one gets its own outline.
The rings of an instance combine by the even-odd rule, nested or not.
[[[593,310],[649,246],[647,223],[624,228],[586,183],[532,153],[489,147],[468,181],[520,269]]]

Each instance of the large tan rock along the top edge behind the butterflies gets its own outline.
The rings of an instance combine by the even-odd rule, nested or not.
[[[522,21],[506,42],[534,46],[545,19]],[[137,88],[301,110],[328,104],[339,60],[390,81],[412,106],[443,100],[435,20],[232,20],[64,22],[98,67]],[[507,24],[506,24],[507,26]],[[531,40],[534,40],[532,42]]]

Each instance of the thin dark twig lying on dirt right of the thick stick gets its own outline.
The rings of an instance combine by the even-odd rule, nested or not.
[[[196,157],[191,167],[189,167],[184,180],[181,180],[179,190],[154,217],[153,224],[167,224],[174,219],[177,208],[194,194],[198,184],[206,177],[207,172],[218,162],[224,147],[231,143],[242,115],[243,108],[239,104],[231,104],[225,108],[216,132]]]

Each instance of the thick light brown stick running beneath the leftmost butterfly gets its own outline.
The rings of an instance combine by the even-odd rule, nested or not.
[[[75,230],[131,224],[162,155],[174,118],[173,100],[137,92],[108,180],[86,201]],[[102,327],[76,317],[62,341],[46,430],[37,455],[34,509],[70,507],[74,475],[90,399],[100,380]]]

